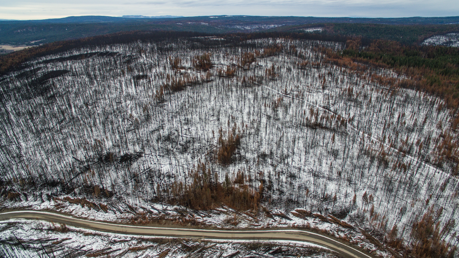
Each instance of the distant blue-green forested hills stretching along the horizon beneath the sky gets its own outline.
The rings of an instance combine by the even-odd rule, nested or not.
[[[39,45],[132,30],[173,30],[204,33],[291,31],[311,26],[326,27],[322,33],[363,35],[416,43],[426,35],[459,31],[459,17],[349,18],[201,16],[177,18],[127,18],[107,16],[65,17],[30,21],[0,21],[0,44]],[[380,24],[380,27],[374,25]],[[404,25],[404,26],[401,26]],[[373,27],[372,27],[373,26]],[[333,29],[330,29],[333,28]],[[405,34],[409,34],[406,36]],[[392,38],[391,38],[392,37]]]

